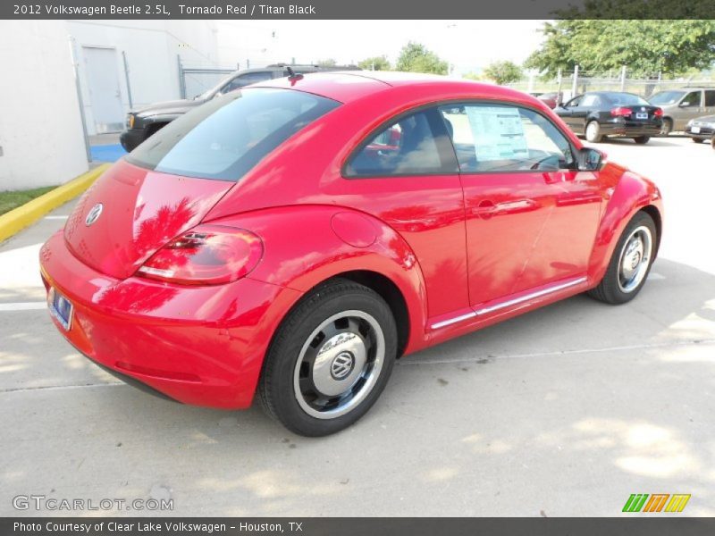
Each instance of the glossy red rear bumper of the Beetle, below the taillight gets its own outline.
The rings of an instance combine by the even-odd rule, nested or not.
[[[250,406],[273,331],[299,297],[248,278],[214,287],[116,280],[71,255],[61,233],[42,247],[40,264],[46,287],[74,307],[69,331],[53,322],[75,348],[198,406]]]

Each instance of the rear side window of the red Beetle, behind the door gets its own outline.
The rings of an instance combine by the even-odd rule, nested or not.
[[[434,108],[392,121],[372,135],[345,167],[346,177],[457,173],[454,152]]]

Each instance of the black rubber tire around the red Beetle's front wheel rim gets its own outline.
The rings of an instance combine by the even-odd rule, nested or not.
[[[644,267],[643,278],[633,289],[624,289],[621,277],[621,260],[625,253],[627,241],[631,238],[636,230],[647,228],[651,234],[650,252],[648,252],[648,264]],[[643,211],[635,214],[626,229],[618,239],[618,244],[613,250],[613,255],[610,258],[609,267],[606,274],[603,276],[601,283],[595,289],[589,290],[588,295],[605,302],[607,304],[618,305],[625,304],[632,300],[638,292],[643,289],[645,281],[648,279],[648,274],[651,272],[653,256],[655,255],[656,245],[658,244],[658,234],[652,217]],[[627,286],[626,286],[627,287]]]

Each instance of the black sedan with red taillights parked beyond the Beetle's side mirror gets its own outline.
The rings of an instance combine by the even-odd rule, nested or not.
[[[663,111],[633,93],[593,91],[578,95],[554,110],[568,127],[588,141],[607,136],[633,138],[644,144],[660,134]]]

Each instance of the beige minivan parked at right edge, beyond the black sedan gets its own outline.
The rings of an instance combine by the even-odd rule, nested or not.
[[[687,121],[715,113],[715,88],[669,89],[655,93],[649,99],[663,110],[660,134],[686,130]]]

